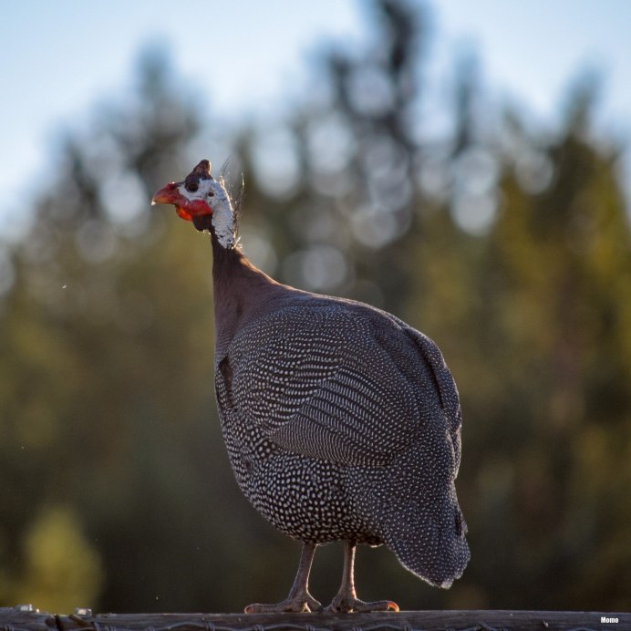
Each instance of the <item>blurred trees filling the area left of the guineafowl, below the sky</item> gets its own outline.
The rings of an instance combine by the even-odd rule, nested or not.
[[[63,142],[13,256],[0,328],[3,599],[47,592],[33,558],[47,545],[68,563],[83,554],[77,566],[101,558],[102,604],[186,605],[192,581],[173,580],[178,593],[169,568],[207,545],[194,524],[212,530],[198,508],[213,475],[202,419],[212,409],[210,253],[189,246],[192,233],[167,235],[163,213],[148,209],[151,192],[189,167],[200,120],[164,59],[148,54],[139,77],[129,101]],[[40,515],[57,504],[72,505],[72,518]],[[68,549],[77,529],[89,533],[86,550]],[[72,584],[57,607],[98,597],[98,581]]]

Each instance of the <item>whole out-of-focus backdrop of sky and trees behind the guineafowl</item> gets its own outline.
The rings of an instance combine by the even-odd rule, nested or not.
[[[471,564],[445,592],[360,549],[359,595],[628,609],[630,23],[615,0],[3,3],[0,605],[288,592],[299,544],[224,453],[210,244],[149,207],[210,158],[243,174],[255,264],[403,317],[459,385]],[[323,601],[341,557],[316,556]]]

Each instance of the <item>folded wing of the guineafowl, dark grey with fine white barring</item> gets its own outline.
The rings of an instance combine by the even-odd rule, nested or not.
[[[431,366],[408,334],[393,320],[379,324],[336,304],[258,321],[229,357],[234,407],[286,450],[386,464],[432,414],[419,404],[419,383],[421,397],[440,404]]]

